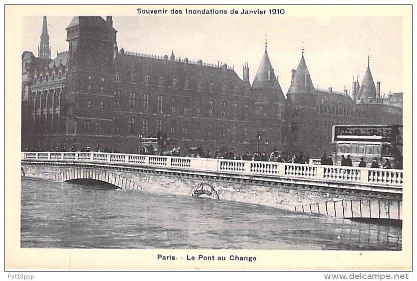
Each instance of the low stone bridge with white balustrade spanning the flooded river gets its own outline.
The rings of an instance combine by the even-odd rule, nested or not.
[[[102,152],[22,152],[22,176],[208,196],[341,218],[402,219],[402,170]]]

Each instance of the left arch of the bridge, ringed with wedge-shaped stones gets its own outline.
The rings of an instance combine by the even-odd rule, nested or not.
[[[140,186],[137,182],[131,180],[130,178],[100,169],[68,169],[56,173],[51,177],[51,180],[58,182],[78,179],[97,180],[112,184],[122,189],[146,191],[142,186]]]

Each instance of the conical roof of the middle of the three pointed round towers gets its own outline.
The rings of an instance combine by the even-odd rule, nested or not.
[[[301,56],[294,77],[291,80],[287,95],[288,94],[315,94],[313,82],[311,81],[310,73],[308,72],[306,61],[304,60],[304,53]]]

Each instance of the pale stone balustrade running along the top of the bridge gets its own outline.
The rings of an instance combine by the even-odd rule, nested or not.
[[[243,175],[402,186],[402,170],[103,152],[22,152],[22,160],[123,163]]]

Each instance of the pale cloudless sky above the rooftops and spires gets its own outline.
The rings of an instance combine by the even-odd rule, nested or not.
[[[105,18],[105,15],[102,15]],[[48,17],[52,55],[68,50],[65,28],[72,17]],[[351,91],[352,77],[362,81],[368,54],[381,93],[402,92],[402,19],[400,17],[113,17],[117,45],[126,51],[234,66],[242,78],[249,63],[251,83],[265,50],[287,93],[291,70],[304,46],[315,87]],[[23,51],[38,55],[42,17],[25,17]]]

